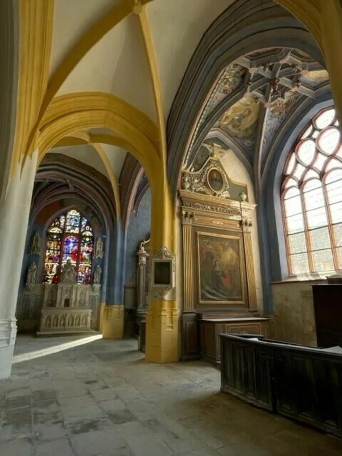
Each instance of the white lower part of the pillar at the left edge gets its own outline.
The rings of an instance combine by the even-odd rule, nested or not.
[[[22,171],[18,166],[0,207],[0,379],[11,374],[15,312],[37,160],[38,152],[34,152]]]

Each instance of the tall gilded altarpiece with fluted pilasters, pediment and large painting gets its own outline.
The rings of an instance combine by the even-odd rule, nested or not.
[[[231,187],[238,199],[231,199]],[[241,190],[242,188],[242,190]],[[255,204],[247,187],[230,180],[210,157],[200,170],[183,171],[182,359],[217,361],[221,332],[265,333],[258,313],[251,230]]]

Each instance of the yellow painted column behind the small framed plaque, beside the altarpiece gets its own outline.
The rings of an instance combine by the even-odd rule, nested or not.
[[[150,254],[161,247],[175,254],[175,211],[166,175],[151,181]],[[177,259],[176,259],[177,262]],[[177,283],[175,283],[177,287]],[[146,318],[146,361],[172,363],[179,361],[179,313],[175,299],[150,299]]]

